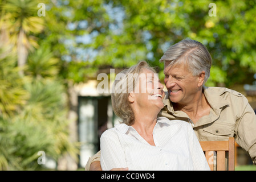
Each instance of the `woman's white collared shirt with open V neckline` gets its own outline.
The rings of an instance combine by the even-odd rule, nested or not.
[[[181,120],[159,117],[151,146],[132,126],[124,123],[106,130],[100,138],[103,170],[210,170],[192,126]]]

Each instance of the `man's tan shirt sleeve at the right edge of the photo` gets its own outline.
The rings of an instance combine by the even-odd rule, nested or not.
[[[240,106],[240,117],[235,123],[235,141],[251,157],[256,164],[256,115],[246,97],[242,97]]]

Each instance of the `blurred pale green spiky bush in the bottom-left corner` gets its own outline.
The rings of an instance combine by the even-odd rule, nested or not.
[[[38,151],[56,156],[54,140],[42,125],[17,115],[10,119],[0,117],[0,170],[35,170]]]

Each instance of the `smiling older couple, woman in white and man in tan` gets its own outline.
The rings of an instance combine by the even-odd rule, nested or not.
[[[123,73],[115,85],[136,74],[129,92],[112,93],[112,107],[122,123],[105,131],[101,152],[86,170],[209,170],[198,140],[236,142],[256,157],[256,115],[245,96],[227,88],[205,87],[212,58],[195,40],[182,40],[161,57],[164,82],[145,62]],[[146,75],[140,79],[139,75]],[[144,86],[146,85],[146,86]],[[139,92],[134,92],[135,90]]]

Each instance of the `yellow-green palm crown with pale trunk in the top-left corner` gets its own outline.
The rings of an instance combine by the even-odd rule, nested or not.
[[[7,0],[2,2],[1,27],[2,34],[8,36],[8,42],[17,52],[18,65],[26,64],[29,50],[38,47],[35,34],[44,28],[44,19],[37,16],[38,1]],[[21,73],[23,73],[21,71]]]

